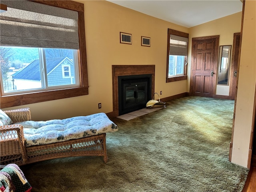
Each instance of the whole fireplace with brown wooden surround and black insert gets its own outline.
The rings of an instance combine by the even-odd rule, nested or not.
[[[119,111],[120,107],[119,105],[122,105],[122,103],[120,102],[120,99],[122,100],[122,98],[119,99],[119,94],[122,91],[122,89],[120,89],[119,87],[119,81],[122,79],[127,79],[125,77],[130,76],[130,78],[132,79],[131,81],[124,81],[125,84],[125,88],[123,88],[123,90],[125,90],[127,88],[127,91],[129,90],[129,93],[131,96],[135,96],[137,97],[137,94],[142,94],[142,90],[145,88],[147,89],[147,94],[149,92],[148,98],[146,98],[145,94],[144,94],[144,102],[146,100],[146,102],[151,98],[151,96],[154,94],[154,83],[155,83],[155,65],[112,65],[112,86],[113,86],[113,112],[111,114],[111,116],[119,116],[120,114],[124,114],[122,111]],[[135,79],[137,81],[137,79],[142,78],[142,82],[137,82],[137,88],[136,88],[136,82],[133,82],[133,80]],[[147,83],[143,83],[145,82],[145,78],[149,78]],[[140,87],[138,88],[138,83],[142,83],[144,85],[140,85]],[[131,85],[129,85],[131,84]],[[131,88],[132,86],[135,86],[134,88]],[[144,88],[143,88],[144,87]],[[134,90],[134,91],[132,91]],[[138,91],[139,90],[139,91]],[[138,95],[139,96],[139,95]],[[135,98],[133,98],[133,100],[135,101]],[[137,98],[137,101],[140,100]],[[136,102],[137,102],[136,101]],[[129,103],[129,104],[128,104]],[[130,103],[130,100],[128,101],[126,105],[127,108],[131,107],[134,108],[134,106],[130,106],[133,105]],[[142,104],[140,106],[141,108],[146,107],[146,103]],[[139,108],[140,108],[139,107]],[[131,110],[131,109],[127,109]],[[134,110],[134,109],[133,109]]]

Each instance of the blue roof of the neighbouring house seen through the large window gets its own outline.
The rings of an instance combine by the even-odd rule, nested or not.
[[[70,59],[67,57],[46,58],[47,74],[49,74],[56,66],[62,63],[64,60],[69,60],[70,62]],[[40,81],[41,75],[39,66],[39,59],[35,59],[26,67],[14,73],[12,75],[13,79]]]

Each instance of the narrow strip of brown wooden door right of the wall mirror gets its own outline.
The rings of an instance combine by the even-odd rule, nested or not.
[[[230,87],[229,87],[229,96],[230,96],[230,99],[232,100],[235,99],[235,95],[236,95],[239,48],[240,48],[240,33],[234,33],[232,61],[231,61],[231,70],[230,70],[231,77],[230,77]]]

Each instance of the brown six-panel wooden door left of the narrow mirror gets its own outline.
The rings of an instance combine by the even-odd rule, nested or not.
[[[212,97],[216,90],[219,36],[192,38],[191,92]]]

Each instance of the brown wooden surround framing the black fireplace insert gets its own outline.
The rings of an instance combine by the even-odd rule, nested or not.
[[[155,65],[112,65],[113,112],[118,116],[118,76],[152,74],[152,90],[155,88]]]

